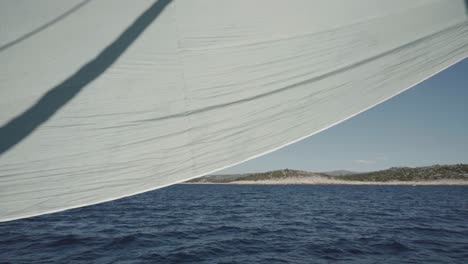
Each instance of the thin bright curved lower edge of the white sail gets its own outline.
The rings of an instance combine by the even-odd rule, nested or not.
[[[239,161],[239,162],[235,162],[235,163],[232,163],[232,164],[230,164],[230,165],[223,166],[223,167],[220,167],[220,168],[218,168],[218,169],[215,169],[215,170],[212,170],[212,171],[209,171],[209,172],[206,172],[206,173],[202,173],[202,174],[199,174],[199,175],[195,175],[195,176],[192,176],[192,177],[183,179],[183,180],[178,180],[178,181],[175,181],[175,182],[170,183],[170,184],[165,184],[165,185],[161,185],[161,186],[146,188],[146,189],[143,189],[143,190],[140,190],[140,191],[137,191],[137,192],[133,192],[133,193],[129,193],[129,194],[121,195],[121,196],[116,196],[116,197],[112,197],[112,198],[108,198],[108,199],[102,199],[102,200],[95,201],[95,202],[92,202],[92,203],[85,203],[85,204],[81,204],[81,205],[77,205],[77,206],[70,206],[70,207],[61,208],[61,209],[53,209],[53,210],[49,210],[49,211],[44,211],[44,212],[39,213],[39,214],[29,214],[29,215],[27,214],[27,215],[22,215],[21,217],[4,218],[4,219],[0,219],[0,222],[7,222],[7,221],[18,220],[18,219],[25,219],[25,218],[30,218],[30,217],[40,216],[40,215],[47,215],[47,214],[52,214],[52,213],[57,213],[57,212],[63,212],[63,211],[71,210],[71,209],[76,209],[76,208],[81,208],[81,207],[96,205],[96,204],[100,204],[100,203],[104,203],[104,202],[110,202],[110,201],[114,201],[114,200],[118,200],[118,199],[130,197],[130,196],[134,196],[134,195],[137,195],[137,194],[141,194],[141,193],[145,193],[145,192],[149,192],[149,191],[154,191],[154,190],[157,190],[157,189],[165,188],[165,187],[168,187],[168,186],[171,186],[171,185],[175,185],[175,184],[179,184],[179,183],[182,183],[182,182],[186,182],[186,181],[191,180],[191,179],[203,177],[203,176],[206,176],[206,175],[215,173],[215,172],[217,172],[217,171],[221,171],[221,170],[224,170],[224,169],[227,169],[227,168],[236,166],[236,165],[238,165],[238,164],[244,163],[244,162],[249,161],[249,160],[253,160],[253,159],[255,159],[255,158],[258,158],[258,157],[267,155],[267,154],[269,154],[269,153],[272,153],[272,152],[274,152],[274,151],[276,151],[276,150],[279,150],[279,149],[281,149],[281,148],[284,148],[284,147],[286,147],[286,146],[292,145],[292,144],[294,144],[294,143],[296,143],[296,142],[299,142],[299,141],[301,141],[301,140],[303,140],[303,139],[306,139],[306,138],[311,137],[311,136],[313,136],[313,135],[316,135],[316,134],[318,134],[318,133],[320,133],[320,132],[322,132],[322,131],[325,131],[325,130],[331,128],[331,127],[334,127],[334,126],[336,126],[336,125],[338,125],[338,124],[340,124],[340,123],[342,123],[342,122],[345,122],[346,120],[351,119],[351,118],[353,118],[353,117],[355,117],[355,116],[357,116],[357,115],[359,115],[359,114],[361,114],[361,113],[363,113],[363,112],[365,112],[365,111],[367,111],[367,110],[369,110],[369,109],[371,109],[371,108],[373,108],[373,107],[375,107],[375,106],[377,106],[377,105],[379,105],[379,104],[381,104],[381,103],[384,103],[385,101],[387,101],[387,100],[389,100],[389,99],[392,99],[393,97],[395,97],[395,96],[397,96],[397,95],[399,95],[399,94],[401,94],[401,93],[403,93],[403,92],[405,92],[405,91],[407,91],[407,90],[409,90],[409,89],[415,87],[416,85],[418,85],[418,84],[420,84],[420,83],[422,83],[422,82],[424,82],[424,81],[426,81],[426,80],[432,78],[433,76],[439,74],[440,72],[442,72],[442,71],[444,71],[444,70],[446,70],[446,69],[452,67],[453,65],[455,65],[455,64],[457,64],[457,63],[459,63],[459,62],[461,62],[461,61],[463,61],[463,60],[465,60],[465,59],[467,59],[467,58],[468,58],[468,57],[465,56],[465,57],[463,57],[463,58],[461,58],[461,59],[459,59],[459,60],[455,60],[455,62],[449,64],[448,66],[442,67],[440,70],[435,71],[433,74],[431,74],[431,75],[429,75],[429,76],[427,76],[427,77],[425,77],[425,78],[423,78],[423,79],[421,79],[421,80],[415,82],[414,84],[410,85],[409,87],[407,87],[407,88],[405,88],[405,89],[402,89],[402,90],[398,91],[397,93],[395,93],[395,94],[393,94],[393,95],[391,95],[391,96],[389,96],[389,97],[387,97],[387,98],[385,98],[385,99],[383,99],[383,100],[381,100],[381,101],[379,101],[379,102],[377,102],[377,103],[375,103],[375,104],[373,104],[373,105],[371,105],[371,106],[369,106],[369,107],[367,107],[367,108],[365,108],[365,109],[363,109],[363,110],[360,110],[360,111],[358,111],[358,112],[356,112],[356,113],[354,113],[354,114],[352,114],[352,115],[350,115],[350,116],[348,116],[348,117],[346,117],[346,118],[343,118],[342,120],[340,120],[340,121],[338,121],[338,122],[335,122],[335,123],[333,123],[333,124],[331,124],[331,125],[329,125],[329,126],[326,126],[326,127],[322,128],[322,129],[320,129],[320,130],[314,131],[314,132],[312,132],[312,133],[310,133],[310,134],[307,134],[307,135],[305,135],[305,136],[299,137],[299,138],[297,138],[297,139],[295,139],[295,140],[292,140],[292,141],[290,141],[290,142],[288,142],[288,143],[286,143],[286,144],[283,144],[283,145],[281,145],[281,146],[279,146],[279,147],[275,147],[275,148],[273,148],[273,149],[264,151],[264,152],[262,152],[262,153],[260,153],[260,154],[253,155],[253,156],[251,156],[251,157],[249,157],[249,158],[246,158],[246,159],[244,159],[244,160],[241,160],[241,161]]]

